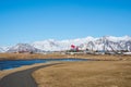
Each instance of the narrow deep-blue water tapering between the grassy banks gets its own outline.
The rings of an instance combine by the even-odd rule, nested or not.
[[[46,63],[46,62],[52,62],[52,61],[87,61],[87,59],[4,60],[4,61],[0,61],[0,71],[12,70],[23,65],[31,65],[35,63]]]

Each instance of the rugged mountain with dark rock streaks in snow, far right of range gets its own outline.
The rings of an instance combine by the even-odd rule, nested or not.
[[[131,51],[131,37],[129,36],[124,36],[124,37],[105,36],[94,41],[90,41],[85,45],[86,47],[83,49],[106,50],[106,51],[117,51],[117,50]]]

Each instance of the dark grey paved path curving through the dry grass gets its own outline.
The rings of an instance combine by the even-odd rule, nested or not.
[[[60,63],[36,66],[29,70],[10,74],[0,80],[0,87],[37,87],[36,82],[32,77],[32,73],[38,69],[51,66],[56,64],[60,64]]]

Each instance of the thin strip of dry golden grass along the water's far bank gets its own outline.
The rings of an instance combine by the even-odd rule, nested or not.
[[[99,60],[131,60],[131,55],[107,55],[107,54],[29,54],[29,53],[0,53],[0,60],[21,60],[21,59],[58,59],[58,58],[83,58],[83,59],[99,59]]]

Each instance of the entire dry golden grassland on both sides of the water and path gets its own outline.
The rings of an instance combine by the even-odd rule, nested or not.
[[[0,60],[49,58],[82,58],[100,61],[66,62],[40,69],[33,73],[39,87],[131,87],[131,55],[0,53]],[[0,78],[23,69],[25,67],[0,71]]]

